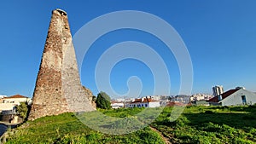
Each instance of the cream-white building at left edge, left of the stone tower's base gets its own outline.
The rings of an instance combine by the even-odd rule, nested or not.
[[[15,107],[20,105],[20,102],[27,102],[31,104],[31,98],[22,95],[13,95],[9,97],[3,97],[0,103],[0,112],[3,114],[8,114],[12,112],[16,112]]]

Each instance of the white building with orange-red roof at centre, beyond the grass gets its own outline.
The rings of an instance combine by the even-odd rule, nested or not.
[[[160,107],[160,101],[155,101],[149,97],[143,97],[126,103],[125,107]]]

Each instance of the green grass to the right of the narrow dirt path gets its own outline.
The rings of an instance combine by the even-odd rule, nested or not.
[[[170,122],[166,107],[153,124],[172,143],[255,143],[256,107],[186,107]]]

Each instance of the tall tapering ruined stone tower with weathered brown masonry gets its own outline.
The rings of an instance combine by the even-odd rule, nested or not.
[[[63,112],[88,112],[92,107],[90,90],[85,90],[79,70],[67,13],[55,9],[49,24],[29,119]]]

